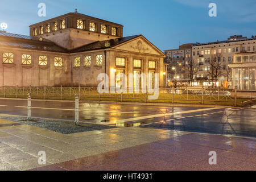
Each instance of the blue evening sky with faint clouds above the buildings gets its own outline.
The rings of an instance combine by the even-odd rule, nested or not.
[[[46,17],[38,4],[46,3]],[[209,17],[209,3],[217,17]],[[123,24],[123,36],[142,34],[159,49],[183,43],[226,40],[229,35],[256,35],[255,0],[1,0],[0,23],[7,32],[29,34],[28,26],[75,11]]]

